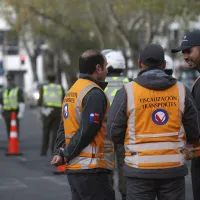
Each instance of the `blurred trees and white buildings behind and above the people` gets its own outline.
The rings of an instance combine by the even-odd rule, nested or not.
[[[197,74],[187,71],[178,46],[188,30],[200,28],[197,0],[1,0],[0,88],[15,73],[34,106],[47,70],[67,89],[77,78],[78,56],[88,48],[115,49],[126,58],[125,74],[137,75],[141,45],[159,43],[167,67],[188,87]],[[178,57],[174,57],[178,56]]]

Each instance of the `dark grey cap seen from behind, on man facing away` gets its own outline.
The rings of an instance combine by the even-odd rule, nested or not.
[[[159,67],[165,61],[164,49],[158,44],[147,44],[140,49],[139,60],[148,67]]]

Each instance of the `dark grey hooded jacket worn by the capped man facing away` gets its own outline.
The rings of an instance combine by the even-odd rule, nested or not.
[[[166,90],[176,84],[177,80],[165,74],[163,70],[153,69],[142,71],[133,81],[151,90]],[[118,90],[108,112],[107,129],[112,141],[117,144],[124,142],[128,117],[127,96],[125,88]],[[186,131],[187,142],[199,139],[199,118],[196,104],[190,91],[186,88],[185,112],[182,119]],[[137,169],[124,165],[124,175],[138,178],[174,178],[187,175],[186,165],[173,169]]]

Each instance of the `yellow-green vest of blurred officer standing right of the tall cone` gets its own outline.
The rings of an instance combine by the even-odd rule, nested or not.
[[[43,86],[43,105],[50,107],[62,107],[62,87],[58,84]]]

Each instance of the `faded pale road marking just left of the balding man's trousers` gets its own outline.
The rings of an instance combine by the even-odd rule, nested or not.
[[[67,179],[66,179],[66,181],[63,181],[63,180],[56,178],[54,176],[25,177],[24,179],[29,180],[29,181],[46,180],[46,181],[51,181],[51,182],[55,183],[56,185],[64,185],[64,186],[69,185],[68,182],[67,182]]]

